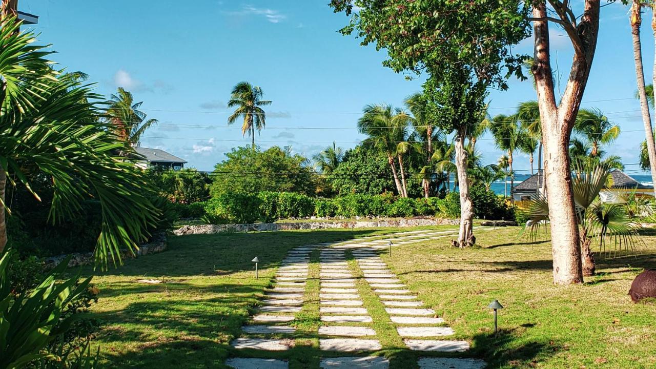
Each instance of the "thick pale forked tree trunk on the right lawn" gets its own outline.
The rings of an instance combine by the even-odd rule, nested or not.
[[[549,194],[553,274],[556,284],[583,282],[579,226],[573,200],[568,148],[596,49],[599,8],[599,0],[585,0],[579,26],[564,26],[572,40],[574,56],[567,86],[560,106],[557,106],[550,64],[546,5],[544,2],[536,2],[533,5],[535,63],[532,72],[542,122],[544,175]]]

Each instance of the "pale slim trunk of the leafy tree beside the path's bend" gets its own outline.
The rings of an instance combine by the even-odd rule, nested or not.
[[[466,126],[461,127],[455,137],[455,165],[457,167],[458,186],[460,188],[460,232],[453,246],[466,248],[476,244],[474,237],[474,204],[469,197],[469,180],[467,179],[467,153],[464,150]]]

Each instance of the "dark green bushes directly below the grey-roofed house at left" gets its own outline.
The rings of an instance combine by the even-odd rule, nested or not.
[[[193,204],[209,198],[212,180],[207,173],[199,172],[194,168],[179,171],[148,169],[146,176],[159,196],[167,198],[170,202]]]

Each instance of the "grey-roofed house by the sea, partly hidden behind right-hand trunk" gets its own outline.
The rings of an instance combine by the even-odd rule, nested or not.
[[[532,175],[512,190],[512,198],[515,201],[531,200],[542,194],[542,183],[544,175]],[[613,185],[600,191],[599,197],[602,202],[624,202],[626,194],[635,192],[638,196],[653,196],[653,186],[643,185],[623,171],[611,171]]]

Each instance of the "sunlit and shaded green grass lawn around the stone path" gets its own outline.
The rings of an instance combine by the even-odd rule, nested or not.
[[[424,227],[453,228],[453,227]],[[420,229],[420,228],[419,228]],[[403,230],[407,230],[404,228]],[[171,236],[169,250],[129,260],[97,273],[100,301],[92,308],[104,322],[95,343],[107,368],[224,368],[228,343],[269,286],[287,250],[385,230],[312,230]],[[656,266],[656,236],[646,236],[637,257],[603,259],[599,276],[581,286],[554,286],[546,239],[527,242],[519,228],[478,232],[480,248],[449,248],[448,238],[397,246],[392,271],[438,311],[457,339],[472,343],[466,355],[484,358],[489,368],[653,368],[656,366],[656,306],[633,304],[626,293],[644,267]],[[262,260],[255,280],[255,256]],[[318,251],[312,254],[318,260]],[[352,270],[359,275],[354,262]],[[297,315],[297,347],[262,356],[281,357],[291,368],[318,368],[318,265],[310,267],[308,303]],[[162,284],[141,284],[157,278]],[[417,368],[418,353],[403,349],[379,299],[362,280],[358,290],[373,316],[383,345],[379,355],[391,367]],[[486,309],[499,299],[499,336]],[[366,325],[366,324],[365,324]],[[341,354],[339,356],[346,356]],[[451,355],[453,356],[453,355]]]

